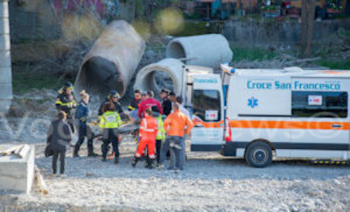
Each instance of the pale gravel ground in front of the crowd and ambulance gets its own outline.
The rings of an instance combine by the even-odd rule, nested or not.
[[[216,152],[189,152],[186,168],[148,170],[143,162],[130,166],[134,144],[121,143],[121,161],[100,157],[71,158],[67,177],[50,177],[51,158],[36,143],[36,164],[49,195],[19,195],[18,211],[349,211],[348,166],[315,166],[308,161],[274,161],[251,168],[241,159]],[[95,144],[96,151],[99,151]]]

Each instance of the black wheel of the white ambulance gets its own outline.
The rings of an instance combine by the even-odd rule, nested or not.
[[[272,162],[272,148],[268,143],[256,141],[248,146],[245,154],[247,164],[256,168],[264,168]]]

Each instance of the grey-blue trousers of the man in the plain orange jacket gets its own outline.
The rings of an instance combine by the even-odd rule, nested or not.
[[[170,143],[174,143],[176,145],[180,145],[182,147],[181,150],[177,148],[170,148]],[[184,147],[184,138],[181,136],[166,136],[166,139],[161,145],[160,150],[160,163],[163,164],[166,158],[166,152],[170,150],[170,169],[174,168],[174,160],[176,162],[176,167],[179,169],[183,168],[183,161],[182,161],[182,155],[181,152],[183,151]],[[175,159],[174,159],[175,157]]]

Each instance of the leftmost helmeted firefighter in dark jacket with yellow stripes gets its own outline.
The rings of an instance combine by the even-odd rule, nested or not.
[[[76,99],[73,95],[73,85],[71,82],[65,82],[63,87],[58,90],[55,104],[59,111],[63,111],[67,114],[67,123],[71,127],[71,131],[74,133],[73,108],[76,107]]]

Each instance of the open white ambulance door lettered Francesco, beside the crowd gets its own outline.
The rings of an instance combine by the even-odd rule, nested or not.
[[[224,138],[224,98],[219,74],[188,71],[185,107],[193,121],[191,151],[219,151]]]

